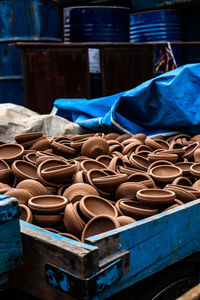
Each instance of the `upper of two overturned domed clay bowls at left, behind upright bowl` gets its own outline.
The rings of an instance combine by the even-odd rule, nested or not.
[[[32,179],[26,179],[18,183],[16,189],[27,190],[29,193],[34,196],[48,195],[48,190],[40,182]]]

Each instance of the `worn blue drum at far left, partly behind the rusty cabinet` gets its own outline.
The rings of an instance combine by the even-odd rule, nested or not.
[[[0,103],[24,104],[15,42],[60,42],[59,5],[46,0],[0,1]]]

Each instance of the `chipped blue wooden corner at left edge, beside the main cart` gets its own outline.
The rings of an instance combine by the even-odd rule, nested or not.
[[[18,202],[0,195],[0,289],[9,280],[10,271],[22,260]]]

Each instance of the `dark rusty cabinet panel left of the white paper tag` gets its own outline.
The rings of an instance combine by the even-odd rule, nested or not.
[[[25,106],[38,113],[50,113],[58,98],[90,97],[86,49],[24,48],[22,70]]]

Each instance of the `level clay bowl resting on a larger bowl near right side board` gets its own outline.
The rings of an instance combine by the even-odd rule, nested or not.
[[[136,198],[147,206],[160,207],[173,203],[175,193],[163,189],[143,189],[137,191]]]

